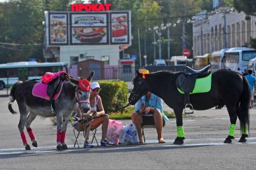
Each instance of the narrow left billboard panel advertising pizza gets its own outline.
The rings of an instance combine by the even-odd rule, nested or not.
[[[49,44],[67,44],[67,14],[49,14]]]

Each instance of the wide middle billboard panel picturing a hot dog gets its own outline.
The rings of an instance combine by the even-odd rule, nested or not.
[[[107,13],[70,14],[70,44],[108,44]]]

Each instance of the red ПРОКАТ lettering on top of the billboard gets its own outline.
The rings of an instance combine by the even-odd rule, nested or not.
[[[72,4],[71,11],[109,11],[111,4]]]

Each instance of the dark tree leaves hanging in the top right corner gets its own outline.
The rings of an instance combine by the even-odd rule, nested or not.
[[[252,0],[234,0],[234,7],[248,16],[256,16],[256,2]]]

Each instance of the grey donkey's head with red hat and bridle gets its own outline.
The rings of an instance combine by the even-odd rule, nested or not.
[[[87,79],[73,79],[73,77],[67,77],[67,79],[76,86],[76,100],[83,113],[87,113],[90,110],[90,82],[92,81],[94,71],[90,73]]]

